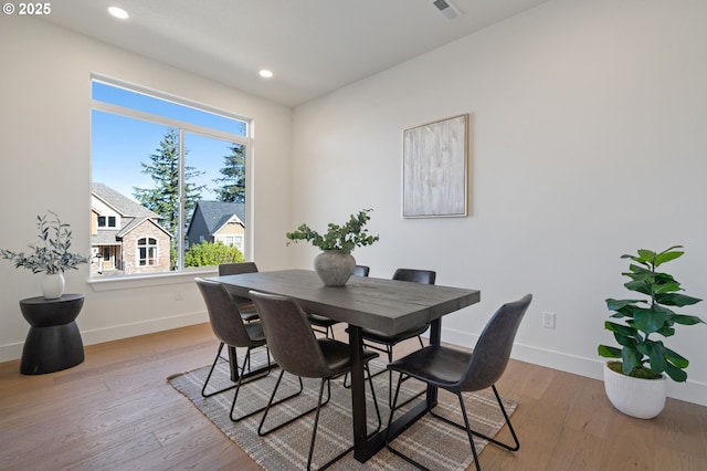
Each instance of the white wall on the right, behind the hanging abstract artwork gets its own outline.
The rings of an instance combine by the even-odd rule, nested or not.
[[[530,292],[515,357],[600,378],[603,300],[630,294],[620,255],[683,244],[666,269],[707,299],[705,18],[697,0],[553,1],[296,108],[293,227],[374,208],[381,240],[354,253],[372,276],[429,268],[482,291],[445,341],[472,345]],[[403,220],[402,129],[462,113],[471,216]],[[310,266],[313,248],[289,250]],[[693,364],[669,395],[707,405],[707,325],[677,329],[666,344]]]

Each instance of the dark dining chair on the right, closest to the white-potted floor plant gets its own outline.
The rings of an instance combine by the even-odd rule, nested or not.
[[[527,294],[518,301],[500,306],[500,308],[498,308],[498,311],[496,311],[488,321],[486,327],[484,327],[484,331],[476,342],[474,350],[471,353],[442,345],[430,345],[389,364],[388,369],[390,371],[398,371],[400,374],[398,386],[395,387],[393,404],[390,408],[390,417],[388,419],[389,429],[393,414],[395,409],[400,407],[397,405],[398,396],[400,394],[400,385],[410,378],[414,378],[428,384],[429,386],[443,388],[456,395],[460,400],[462,416],[464,417],[464,426],[445,417],[439,416],[433,409],[429,409],[429,412],[433,417],[441,419],[446,423],[466,430],[477,471],[481,471],[481,465],[478,464],[476,447],[474,447],[474,436],[481,437],[484,440],[508,451],[517,451],[520,448],[520,442],[518,441],[518,436],[516,435],[516,431],[510,423],[510,419],[508,418],[508,414],[500,400],[500,396],[496,389],[496,381],[506,369],[506,365],[510,358],[513,343],[516,338],[516,333],[518,332],[518,326],[530,305],[530,301],[532,301],[532,295]],[[494,395],[496,396],[500,411],[508,425],[508,430],[513,436],[514,444],[503,443],[494,438],[486,437],[472,430],[469,426],[462,393],[477,391],[488,387],[493,389]],[[391,446],[389,436],[386,437],[386,444],[393,453],[418,468],[421,467],[421,464],[416,463],[412,458],[395,450]]]

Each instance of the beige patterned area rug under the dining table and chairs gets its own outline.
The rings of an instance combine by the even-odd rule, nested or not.
[[[264,349],[255,353],[253,367],[257,367],[265,360]],[[242,358],[239,349],[239,358]],[[384,363],[376,359],[371,364],[373,373],[384,368]],[[256,414],[239,422],[232,422],[229,418],[231,401],[234,389],[222,393],[210,398],[201,397],[201,388],[209,373],[209,367],[196,369],[190,373],[173,375],[168,381],[179,393],[184,395],[197,408],[207,416],[219,429],[231,440],[238,443],[253,460],[265,470],[282,471],[304,469],[307,463],[309,451],[309,440],[314,426],[314,412],[305,416],[302,420],[295,421],[281,430],[264,438],[257,436],[257,427],[262,414]],[[262,379],[253,380],[241,386],[236,414],[247,414],[267,404],[272,394],[279,369]],[[397,378],[395,378],[397,380]],[[220,362],[211,378],[212,385],[217,388],[231,385],[229,377],[228,362]],[[381,411],[383,426],[388,421],[388,374],[378,375],[373,378],[376,397]],[[284,397],[288,393],[297,390],[297,379],[285,373],[283,384],[279,387],[278,397]],[[419,381],[409,380],[403,383],[403,393],[410,397],[416,390],[422,390],[424,386]],[[294,417],[298,411],[307,410],[316,406],[319,390],[319,380],[305,380],[305,390],[294,399],[289,399],[274,409],[267,416],[266,428],[272,428],[277,423]],[[368,430],[373,430],[377,425],[376,414],[370,397],[370,389],[367,381],[367,412]],[[281,396],[282,394],[282,396]],[[325,390],[326,395],[326,390]],[[489,437],[494,437],[504,425],[504,418],[498,409],[498,405],[492,390],[476,394],[465,394],[467,411],[471,415],[471,423],[477,430]],[[517,402],[504,399],[504,406],[511,415],[517,407]],[[351,396],[350,389],[342,386],[342,378],[331,381],[331,400],[321,409],[319,427],[314,451],[313,468],[317,469],[329,459],[339,454],[352,444],[352,422],[351,422]],[[456,396],[440,390],[439,404],[435,411],[445,417],[452,418],[457,423],[463,423],[458,401]],[[399,417],[395,412],[395,417]],[[486,446],[475,437],[476,450]],[[432,470],[465,470],[472,463],[472,451],[468,446],[466,432],[451,427],[439,419],[432,418],[429,414],[415,422],[402,436],[393,442],[395,449],[407,456],[412,457]],[[331,470],[408,470],[414,469],[404,460],[395,457],[389,450],[383,449],[366,463],[360,463],[349,452],[330,468]]]

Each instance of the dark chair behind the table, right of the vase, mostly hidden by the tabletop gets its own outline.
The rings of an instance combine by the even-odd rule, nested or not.
[[[432,270],[418,270],[418,269],[398,269],[393,273],[392,280],[398,281],[408,281],[412,283],[422,283],[422,284],[434,284],[436,281],[436,272]],[[366,343],[368,348],[372,348],[378,352],[383,352],[388,356],[388,363],[393,360],[393,347],[401,342],[404,342],[410,338],[418,337],[418,342],[420,342],[420,347],[423,347],[421,335],[430,328],[430,323],[426,322],[424,324],[416,325],[411,327],[404,332],[401,332],[397,335],[388,335],[379,331],[374,331],[371,328],[361,328],[361,337]],[[373,345],[372,345],[373,344]],[[374,345],[378,344],[378,345]],[[376,373],[373,376],[378,376],[381,373],[386,373],[386,370],[380,370]],[[347,378],[345,378],[345,385],[348,386]],[[388,388],[388,405],[392,404],[392,373],[388,373],[389,379],[389,388]],[[420,393],[421,395],[422,393]],[[418,395],[418,396],[420,396]],[[414,399],[414,398],[411,398]]]

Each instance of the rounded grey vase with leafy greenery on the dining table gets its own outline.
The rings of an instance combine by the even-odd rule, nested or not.
[[[356,259],[351,255],[354,249],[371,245],[379,239],[378,236],[370,236],[365,228],[371,219],[368,216],[370,211],[372,209],[361,209],[341,226],[329,223],[324,234],[306,223],[300,224],[297,230],[285,234],[289,240],[287,244],[306,240],[321,249],[321,253],[314,259],[314,269],[319,279],[325,286],[344,286],[356,268]]]

